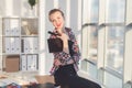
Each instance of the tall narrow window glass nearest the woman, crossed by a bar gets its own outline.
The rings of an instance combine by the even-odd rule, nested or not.
[[[84,0],[82,4],[82,56],[97,62],[99,0]]]

